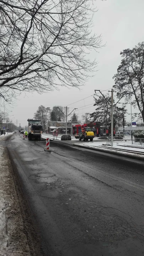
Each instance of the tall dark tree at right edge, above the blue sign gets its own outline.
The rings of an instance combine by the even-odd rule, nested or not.
[[[138,107],[144,122],[144,42],[133,49],[125,49],[121,53],[122,61],[114,75],[114,90],[118,98],[126,93],[128,99],[132,94],[132,104]],[[129,94],[128,94],[129,93]]]

